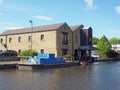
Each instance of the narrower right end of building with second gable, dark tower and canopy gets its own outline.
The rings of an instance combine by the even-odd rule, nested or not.
[[[73,57],[75,60],[86,56],[87,59],[91,56],[91,50],[96,50],[92,46],[92,28],[84,27],[83,25],[71,26],[73,31]]]

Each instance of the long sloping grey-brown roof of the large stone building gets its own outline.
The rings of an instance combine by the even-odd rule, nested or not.
[[[33,30],[32,30],[32,27],[14,29],[14,30],[7,30],[7,31],[1,33],[0,36],[31,33],[31,32],[52,31],[52,30],[59,29],[64,24],[66,24],[66,23],[58,23],[58,24],[51,24],[51,25],[36,26],[36,27],[33,27]]]

